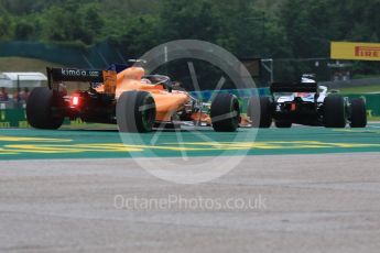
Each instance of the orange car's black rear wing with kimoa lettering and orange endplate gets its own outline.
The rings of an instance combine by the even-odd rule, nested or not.
[[[63,81],[104,84],[106,94],[115,94],[117,82],[116,70],[87,70],[77,68],[46,68],[48,88]]]

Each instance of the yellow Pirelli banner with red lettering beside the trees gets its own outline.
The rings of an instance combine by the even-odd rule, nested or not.
[[[380,43],[332,42],[332,58],[380,61]]]

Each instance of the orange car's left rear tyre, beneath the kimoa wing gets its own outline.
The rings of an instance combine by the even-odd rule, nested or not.
[[[54,97],[53,90],[46,87],[34,88],[26,102],[28,123],[35,129],[56,130],[63,124],[64,117],[53,113],[53,106],[62,99]]]

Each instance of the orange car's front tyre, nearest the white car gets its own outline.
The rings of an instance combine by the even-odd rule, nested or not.
[[[210,117],[216,132],[235,132],[240,122],[237,97],[229,94],[217,95],[211,103]]]

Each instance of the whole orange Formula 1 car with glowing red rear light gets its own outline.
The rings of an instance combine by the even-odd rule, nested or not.
[[[35,88],[28,100],[28,122],[36,129],[58,129],[64,118],[118,124],[120,132],[150,132],[181,124],[211,125],[218,132],[236,131],[239,101],[217,95],[204,103],[176,90],[167,76],[145,75],[142,67],[111,70],[47,68],[48,87]],[[86,90],[67,92],[67,82],[88,82]]]

